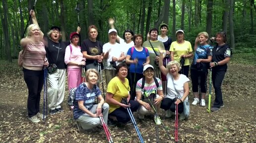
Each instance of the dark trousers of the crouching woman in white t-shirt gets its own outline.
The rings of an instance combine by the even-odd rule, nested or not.
[[[175,112],[175,100],[172,100],[170,98],[164,98],[164,100],[161,103],[160,108],[164,110],[170,109],[172,112]],[[182,113],[184,110],[183,103],[178,104],[178,112]]]

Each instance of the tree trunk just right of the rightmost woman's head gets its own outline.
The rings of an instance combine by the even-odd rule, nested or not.
[[[229,31],[230,31],[230,47],[231,47],[231,49],[235,48],[233,10],[234,10],[234,0],[230,0]]]

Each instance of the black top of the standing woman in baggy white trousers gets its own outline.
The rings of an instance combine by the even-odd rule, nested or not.
[[[57,69],[65,69],[66,64],[64,62],[66,46],[70,44],[69,41],[55,42],[49,38],[48,45],[45,45],[46,56],[49,64],[56,64]]]

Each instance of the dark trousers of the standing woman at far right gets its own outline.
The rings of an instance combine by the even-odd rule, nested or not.
[[[226,71],[217,71],[212,69],[212,83],[215,90],[215,101],[213,107],[220,107],[223,105],[221,84],[224,79]]]

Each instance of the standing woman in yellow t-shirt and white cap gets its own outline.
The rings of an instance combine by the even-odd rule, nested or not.
[[[172,42],[170,52],[172,61],[175,60],[182,65],[181,59],[185,59],[184,65],[182,65],[182,70],[179,73],[185,74],[188,77],[190,69],[189,58],[193,56],[193,50],[191,43],[186,41],[184,36],[185,34],[183,30],[176,31],[176,41]]]

